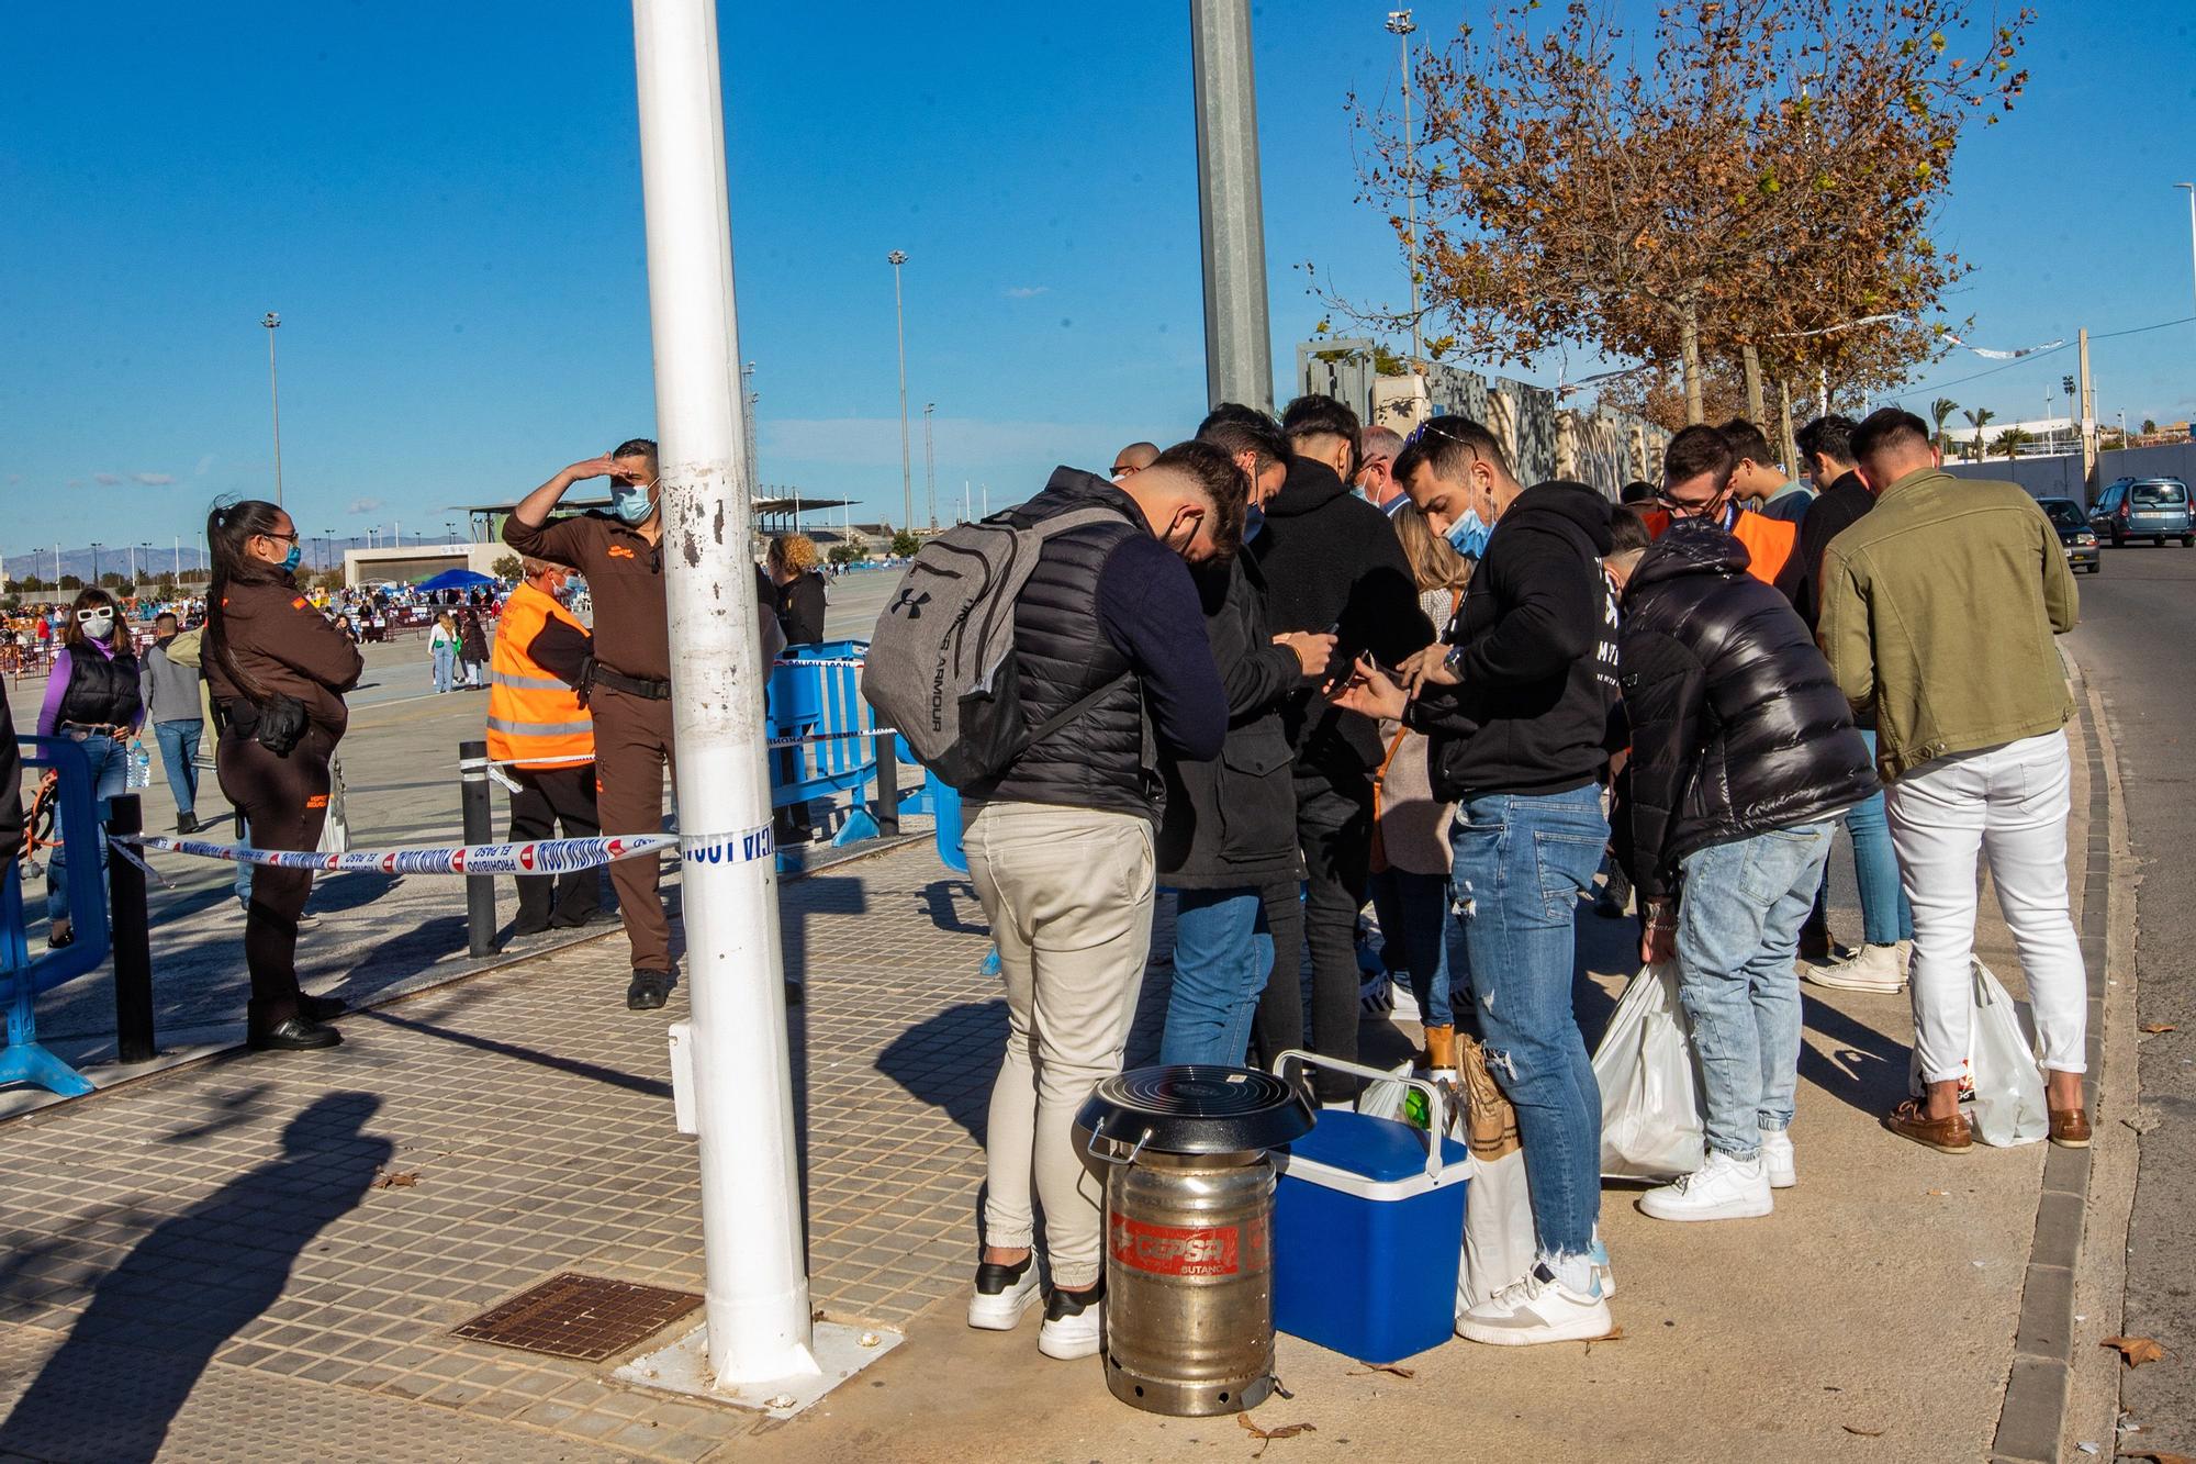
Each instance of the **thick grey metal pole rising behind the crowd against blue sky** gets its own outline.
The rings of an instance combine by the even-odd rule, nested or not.
[[[1258,187],[1258,86],[1250,0],[1190,0],[1197,92],[1197,231],[1206,268],[1206,396],[1274,407],[1265,306],[1265,204]]]

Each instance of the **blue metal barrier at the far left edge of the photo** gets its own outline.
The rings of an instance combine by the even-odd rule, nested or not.
[[[97,969],[108,958],[105,881],[97,879],[105,809],[92,807],[92,765],[83,747],[66,736],[18,736],[24,767],[59,772],[55,827],[68,864],[81,875],[68,881],[68,923],[75,943],[31,958],[31,936],[22,908],[22,859],[7,851],[0,877],[0,998],[7,1000],[7,1046],[0,1046],[0,1086],[37,1084],[48,1093],[79,1097],[92,1090],[81,1073],[37,1042],[31,1002],[64,980]]]

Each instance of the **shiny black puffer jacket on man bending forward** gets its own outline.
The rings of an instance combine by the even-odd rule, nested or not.
[[[1673,523],[1632,572],[1618,668],[1643,897],[1667,895],[1695,849],[1820,822],[1878,789],[1807,624],[1713,523]]]

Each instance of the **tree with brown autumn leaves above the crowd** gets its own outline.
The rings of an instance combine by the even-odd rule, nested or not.
[[[1803,387],[1889,385],[1935,354],[1917,317],[1968,266],[1930,215],[1965,123],[1994,123],[2027,81],[2029,11],[1687,0],[1634,37],[1607,0],[1539,9],[1425,53],[1408,167],[1399,123],[1359,114],[1366,189],[1399,240],[1401,204],[1421,204],[1425,310],[1452,325],[1430,354],[1524,363],[1579,343],[1678,365],[1693,422],[1708,363],[1748,347]]]

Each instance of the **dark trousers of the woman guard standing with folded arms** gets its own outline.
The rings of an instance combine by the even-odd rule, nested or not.
[[[279,758],[257,739],[228,728],[213,754],[222,794],[250,827],[253,849],[321,846],[327,822],[327,758],[336,750],[321,728],[307,728],[290,756]],[[296,917],[312,892],[312,870],[253,870],[253,901],[244,914],[244,961],[253,972],[250,1027],[266,1031],[296,1016]]]

